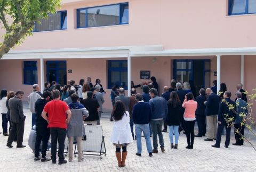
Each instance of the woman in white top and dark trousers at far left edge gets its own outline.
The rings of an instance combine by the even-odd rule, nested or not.
[[[3,135],[8,136],[8,121],[7,121],[7,90],[2,90],[0,93],[0,113],[2,114],[2,128],[3,128]]]

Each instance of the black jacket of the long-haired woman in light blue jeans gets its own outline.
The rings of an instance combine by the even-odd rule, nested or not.
[[[168,114],[166,115],[166,124],[171,125],[180,125],[180,107],[181,102],[174,108],[171,104],[171,101],[167,101]]]

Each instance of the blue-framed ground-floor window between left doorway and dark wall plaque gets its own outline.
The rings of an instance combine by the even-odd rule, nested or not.
[[[108,61],[108,89],[114,85],[128,88],[127,61]]]

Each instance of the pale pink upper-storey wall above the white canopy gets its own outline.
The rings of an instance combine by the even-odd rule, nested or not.
[[[76,29],[76,9],[124,1],[62,5],[68,30],[34,33],[15,50],[163,45],[164,49],[254,47],[256,15],[226,16],[227,0],[129,1],[129,24]],[[0,31],[2,35],[2,31]],[[139,39],[138,39],[139,38]],[[43,44],[43,42],[47,42]]]

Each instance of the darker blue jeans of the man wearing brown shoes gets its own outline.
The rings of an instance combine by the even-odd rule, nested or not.
[[[163,120],[151,120],[150,121],[152,133],[153,133],[153,147],[155,150],[157,150],[158,144],[157,144],[157,135],[159,137],[159,144],[160,148],[164,148],[164,138],[162,134],[162,126],[163,126]]]

